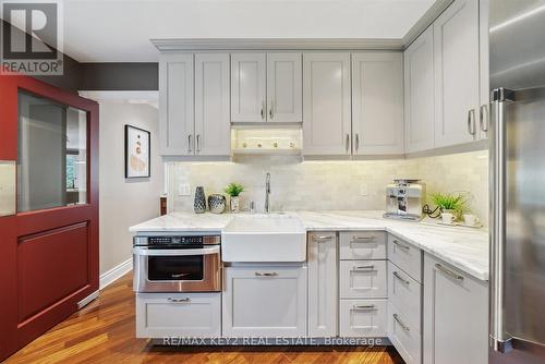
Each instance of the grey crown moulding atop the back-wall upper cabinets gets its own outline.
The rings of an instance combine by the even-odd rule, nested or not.
[[[161,52],[181,50],[402,49],[401,39],[362,38],[167,38],[150,39]]]

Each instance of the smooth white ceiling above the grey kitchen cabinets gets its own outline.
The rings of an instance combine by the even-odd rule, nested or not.
[[[64,0],[64,52],[156,62],[153,38],[402,38],[435,0]]]

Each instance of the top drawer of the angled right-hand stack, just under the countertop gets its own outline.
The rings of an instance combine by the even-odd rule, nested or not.
[[[388,234],[388,259],[422,283],[422,251]]]

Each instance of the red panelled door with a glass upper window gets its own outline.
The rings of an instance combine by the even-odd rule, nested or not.
[[[0,75],[0,361],[98,290],[98,105],[28,76]]]

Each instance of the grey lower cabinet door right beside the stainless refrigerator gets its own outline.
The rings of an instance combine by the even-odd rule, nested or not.
[[[424,363],[487,363],[487,283],[473,279],[426,254]]]

